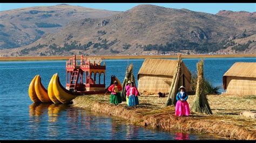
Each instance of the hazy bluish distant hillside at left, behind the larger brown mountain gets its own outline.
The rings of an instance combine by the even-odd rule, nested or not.
[[[60,4],[0,12],[0,49],[29,45],[44,33],[55,33],[69,22],[109,17],[116,11]]]

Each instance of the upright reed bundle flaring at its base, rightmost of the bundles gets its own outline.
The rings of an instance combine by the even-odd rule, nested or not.
[[[204,61],[200,60],[197,63],[197,89],[196,98],[191,106],[191,111],[212,114],[211,108],[208,104],[208,99],[205,94],[204,85]]]

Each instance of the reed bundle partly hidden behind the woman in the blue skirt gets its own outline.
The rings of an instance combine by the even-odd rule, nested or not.
[[[121,91],[121,96],[122,96],[122,101],[126,101],[126,90],[125,90],[125,86],[126,83],[128,83],[128,81],[133,81],[134,82],[134,86],[136,87],[136,82],[135,82],[135,78],[133,75],[133,65],[132,63],[127,66],[126,68],[126,74],[125,74],[125,78],[122,84],[122,88],[123,90]]]

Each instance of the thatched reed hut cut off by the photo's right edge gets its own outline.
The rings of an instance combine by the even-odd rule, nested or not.
[[[236,62],[223,76],[227,94],[256,95],[256,62]]]

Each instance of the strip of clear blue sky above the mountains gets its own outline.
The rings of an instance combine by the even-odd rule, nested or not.
[[[32,6],[51,6],[63,3],[0,3],[0,11],[26,8]],[[79,5],[87,8],[105,9],[112,11],[126,11],[139,4],[153,4],[174,9],[188,9],[198,12],[216,14],[220,10],[256,11],[256,3],[65,3]]]

